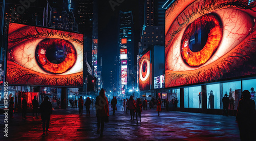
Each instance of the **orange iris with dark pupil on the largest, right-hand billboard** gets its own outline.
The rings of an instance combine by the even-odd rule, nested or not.
[[[223,25],[213,13],[203,15],[190,23],[181,40],[181,56],[193,67],[206,63],[220,45]]]

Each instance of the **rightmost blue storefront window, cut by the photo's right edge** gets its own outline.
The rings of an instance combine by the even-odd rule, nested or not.
[[[251,99],[256,101],[254,88],[256,86],[256,79],[243,80],[243,91],[248,90],[251,93]]]

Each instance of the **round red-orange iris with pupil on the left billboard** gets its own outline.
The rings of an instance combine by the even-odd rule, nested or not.
[[[68,71],[77,58],[74,46],[63,39],[44,39],[38,43],[35,52],[38,65],[52,74]]]

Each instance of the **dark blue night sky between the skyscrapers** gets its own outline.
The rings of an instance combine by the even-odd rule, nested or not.
[[[119,6],[114,7],[114,11],[109,2],[110,0],[100,1],[98,13],[98,61],[102,57],[102,79],[105,89],[110,89],[110,71],[114,70],[114,61],[118,53],[118,15],[120,10],[133,12],[135,49],[138,47],[140,37],[139,1],[124,0]],[[116,2],[116,0],[113,0],[113,2]],[[100,65],[99,63],[98,65]]]

